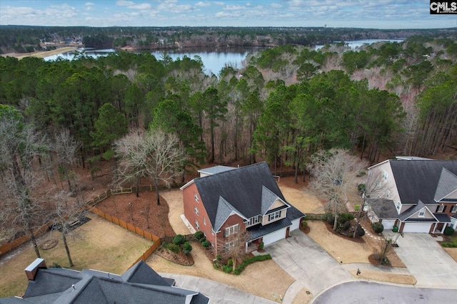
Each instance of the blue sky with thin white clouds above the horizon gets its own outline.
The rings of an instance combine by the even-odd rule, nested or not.
[[[0,25],[454,28],[429,0],[0,0]]]

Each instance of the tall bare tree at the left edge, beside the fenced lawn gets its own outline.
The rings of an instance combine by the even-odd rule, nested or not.
[[[40,224],[41,201],[31,196],[39,185],[41,174],[35,172],[34,160],[46,153],[46,137],[27,125],[21,113],[9,105],[0,105],[0,170],[3,187],[0,188],[4,206],[2,226],[27,231],[37,257],[40,257],[34,228]],[[44,224],[44,223],[41,223]],[[16,232],[16,231],[15,231]]]

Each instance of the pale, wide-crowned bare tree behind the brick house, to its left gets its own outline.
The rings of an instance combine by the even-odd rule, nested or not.
[[[185,160],[178,137],[160,129],[148,130],[144,134],[131,132],[115,142],[114,150],[120,159],[116,184],[136,181],[138,191],[139,179],[148,177],[154,182],[156,201],[160,205],[159,183],[169,186],[181,174]]]

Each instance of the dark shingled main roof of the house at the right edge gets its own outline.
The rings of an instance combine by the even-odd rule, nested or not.
[[[435,203],[443,168],[457,175],[457,160],[390,160],[398,194],[403,204]],[[440,189],[448,189],[448,184],[441,182]],[[457,184],[455,185],[457,189]],[[443,190],[440,190],[443,191]]]

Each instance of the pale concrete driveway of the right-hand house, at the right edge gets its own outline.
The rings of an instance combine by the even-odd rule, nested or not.
[[[416,287],[457,288],[457,263],[430,234],[404,234],[395,252],[416,278]]]

